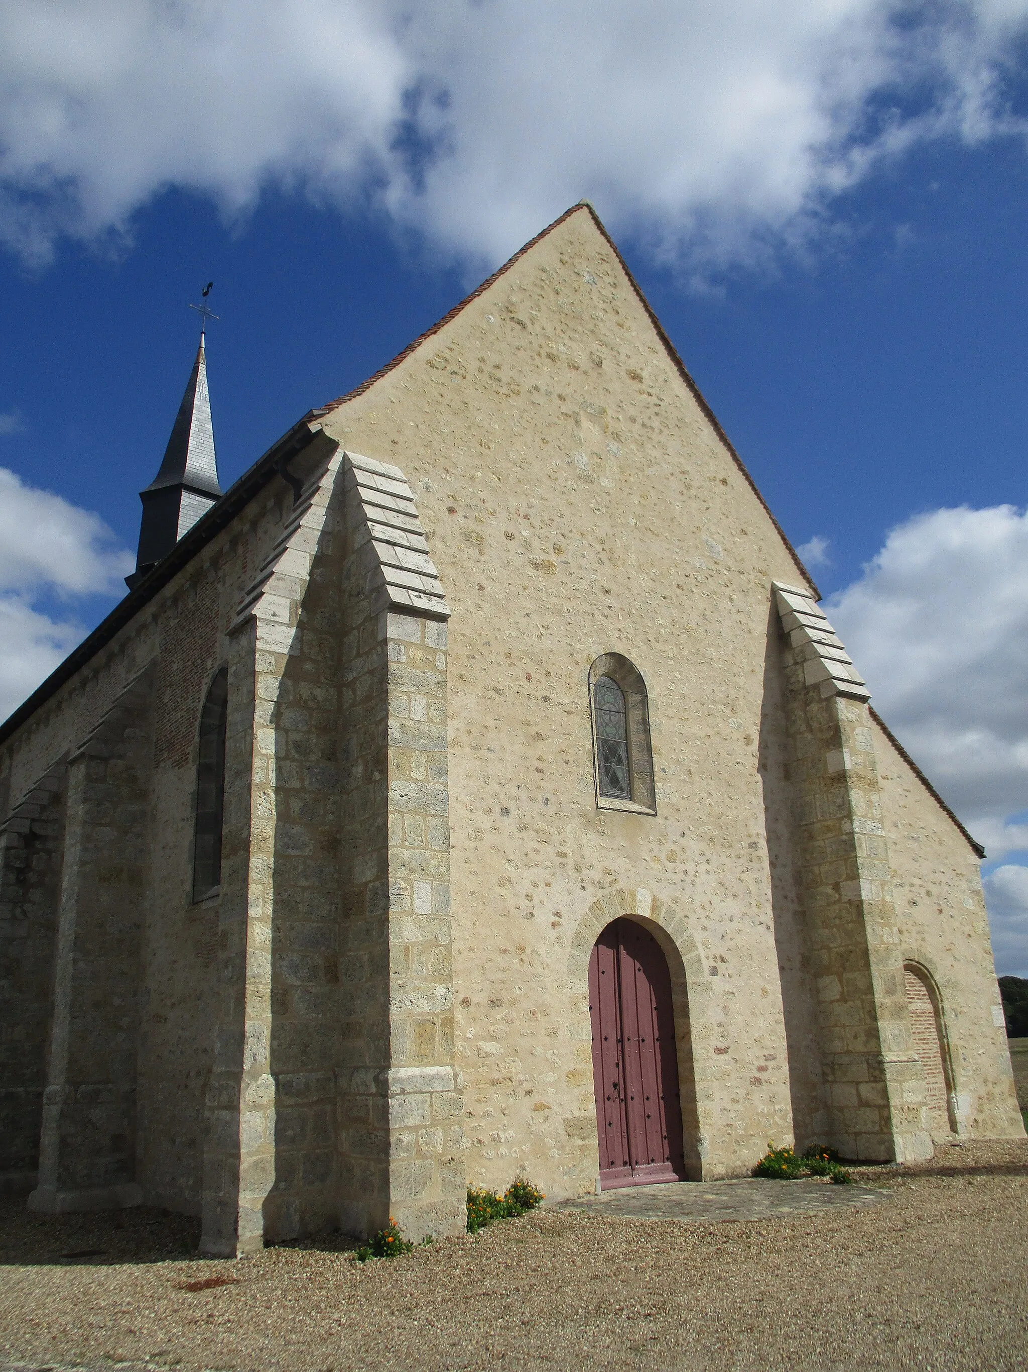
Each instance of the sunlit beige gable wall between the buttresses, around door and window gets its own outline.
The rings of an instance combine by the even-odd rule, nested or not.
[[[792,558],[584,213],[325,427],[403,468],[454,611],[469,1180],[595,1187],[576,937],[598,901],[673,930],[691,1142],[705,1176],[744,1172],[792,1136],[758,774],[770,582]],[[606,652],[647,685],[657,815],[596,805],[587,678]]]

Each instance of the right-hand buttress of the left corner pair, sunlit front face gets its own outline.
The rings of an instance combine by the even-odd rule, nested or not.
[[[389,490],[395,483],[393,525],[406,523],[414,534],[417,510],[402,473],[366,464],[373,466]],[[384,508],[378,517],[388,517]],[[397,595],[382,586],[380,552],[367,531],[369,509],[351,468],[340,1220],[365,1233],[393,1216],[419,1238],[459,1231],[465,1221],[463,1102],[454,1069],[447,626],[414,606],[389,608]]]

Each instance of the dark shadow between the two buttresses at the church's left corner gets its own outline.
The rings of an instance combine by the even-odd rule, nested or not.
[[[347,781],[359,768],[352,683],[344,681],[343,483],[334,482],[318,535],[300,622],[274,698],[274,812],[270,864],[269,1067],[276,1083],[274,1183],[263,1203],[266,1242],[339,1224],[337,1128],[343,1087],[369,1037],[354,978],[373,956],[360,916],[344,910]],[[286,523],[289,513],[286,512]],[[260,694],[260,686],[258,687]],[[348,970],[340,985],[340,966]],[[388,967],[380,969],[388,985]],[[387,1036],[388,1043],[388,1036]],[[370,1124],[370,1121],[369,1121]],[[369,1159],[370,1161],[370,1159]]]

